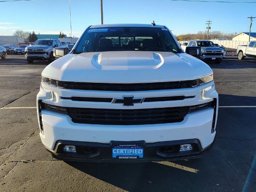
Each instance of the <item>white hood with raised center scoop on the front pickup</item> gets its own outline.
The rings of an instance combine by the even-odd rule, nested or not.
[[[67,54],[42,72],[61,81],[106,83],[193,80],[209,74],[207,64],[186,53],[151,51]]]

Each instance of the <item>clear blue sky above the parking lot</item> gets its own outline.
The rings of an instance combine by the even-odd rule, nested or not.
[[[69,0],[0,2],[0,13],[0,35],[12,35],[15,30],[70,34]],[[250,20],[247,17],[256,16],[256,4],[103,0],[103,15],[104,24],[151,24],[154,20],[156,24],[173,30],[175,35],[204,31],[206,20],[212,21],[211,30],[239,33],[249,31]],[[87,26],[101,24],[100,0],[71,0],[71,22],[72,36],[77,37]],[[251,31],[256,32],[256,19]]]

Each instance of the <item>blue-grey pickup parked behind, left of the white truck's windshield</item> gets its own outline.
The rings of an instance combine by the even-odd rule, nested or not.
[[[55,60],[53,49],[62,46],[57,39],[39,39],[33,45],[25,48],[25,57],[28,63],[34,60],[48,60],[49,63]]]

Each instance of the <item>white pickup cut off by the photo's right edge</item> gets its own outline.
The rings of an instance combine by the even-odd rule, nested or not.
[[[250,41],[249,45],[239,45],[236,50],[239,60],[244,59],[245,57],[254,57],[256,58],[256,41]]]

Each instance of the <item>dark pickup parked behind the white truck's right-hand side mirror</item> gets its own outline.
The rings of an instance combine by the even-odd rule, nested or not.
[[[222,49],[216,47],[212,41],[209,40],[191,40],[187,46],[199,46],[202,50],[202,55],[199,59],[203,61],[212,60],[215,63],[220,63],[223,56]]]

